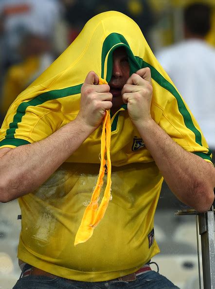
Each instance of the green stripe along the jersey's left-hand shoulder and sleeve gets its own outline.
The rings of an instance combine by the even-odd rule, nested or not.
[[[81,87],[82,87],[82,84],[79,84],[79,85],[68,87],[68,88],[61,89],[61,90],[47,91],[36,96],[34,99],[31,99],[27,102],[22,102],[17,108],[17,113],[14,116],[13,122],[10,123],[9,125],[10,128],[7,129],[6,131],[5,139],[14,138],[14,134],[16,132],[16,129],[18,128],[18,123],[21,122],[21,119],[25,115],[26,109],[29,106],[38,106],[49,100],[80,93]]]

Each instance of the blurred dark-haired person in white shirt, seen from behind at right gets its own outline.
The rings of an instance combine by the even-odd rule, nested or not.
[[[211,7],[186,6],[183,20],[184,40],[156,57],[193,112],[215,162],[215,49],[205,40],[211,29]]]

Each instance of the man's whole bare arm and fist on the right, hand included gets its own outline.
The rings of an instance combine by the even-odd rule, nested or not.
[[[185,204],[204,212],[214,200],[215,168],[181,148],[154,122],[150,115],[150,70],[137,73],[128,79],[123,90],[129,116],[171,191]]]

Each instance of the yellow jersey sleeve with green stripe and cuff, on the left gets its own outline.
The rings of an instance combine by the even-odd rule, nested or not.
[[[57,101],[36,106],[15,101],[0,129],[0,148],[31,144],[54,133],[63,122],[57,106]]]

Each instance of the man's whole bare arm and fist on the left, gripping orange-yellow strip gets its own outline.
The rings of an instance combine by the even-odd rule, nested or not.
[[[105,110],[112,106],[112,96],[108,85],[94,83],[98,83],[98,76],[90,72],[82,86],[81,108],[74,121],[34,144],[0,149],[1,202],[38,188],[100,125]]]

